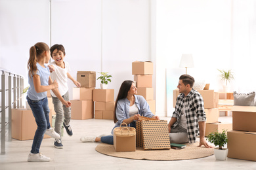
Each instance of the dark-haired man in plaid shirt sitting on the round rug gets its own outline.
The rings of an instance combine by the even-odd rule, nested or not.
[[[190,75],[181,75],[179,78],[179,92],[175,111],[168,124],[171,143],[196,143],[200,132],[199,146],[211,148],[205,140],[206,116],[203,106],[203,97],[194,90],[194,78]],[[198,129],[199,125],[199,129]]]

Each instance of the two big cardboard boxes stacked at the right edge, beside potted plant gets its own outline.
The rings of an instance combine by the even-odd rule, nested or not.
[[[228,131],[228,158],[256,161],[256,107],[232,108],[233,130]]]

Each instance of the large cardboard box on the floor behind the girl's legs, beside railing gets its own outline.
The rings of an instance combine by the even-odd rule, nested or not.
[[[52,122],[52,110],[49,113],[49,121]],[[12,138],[18,140],[32,140],[35,135],[37,124],[32,110],[12,109]],[[43,138],[50,138],[44,135]]]

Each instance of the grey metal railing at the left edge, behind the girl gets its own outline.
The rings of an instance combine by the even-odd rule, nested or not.
[[[5,154],[6,126],[8,125],[8,139],[12,141],[12,108],[22,108],[22,90],[24,89],[23,76],[0,70],[1,75],[1,154]],[[8,75],[8,81],[6,76]],[[8,84],[8,88],[5,85]],[[5,93],[8,92],[8,104]],[[13,95],[13,99],[12,99]],[[13,107],[12,107],[13,105]],[[8,109],[8,122],[6,121],[5,111]]]

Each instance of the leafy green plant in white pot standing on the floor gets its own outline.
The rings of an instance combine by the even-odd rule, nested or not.
[[[228,137],[226,137],[226,131],[223,129],[221,133],[218,131],[211,132],[208,135],[208,141],[210,143],[215,144],[215,146],[219,146],[214,149],[214,155],[216,160],[226,160],[226,156],[228,156],[228,148],[223,148],[223,146],[228,143]]]

